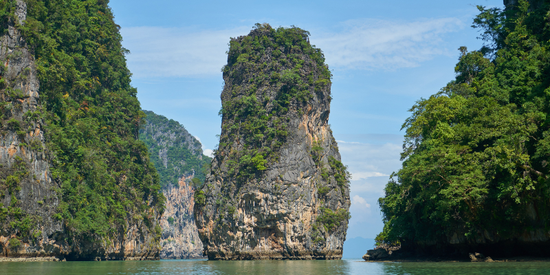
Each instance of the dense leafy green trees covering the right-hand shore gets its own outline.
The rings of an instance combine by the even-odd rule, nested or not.
[[[550,226],[550,1],[478,6],[486,43],[410,109],[378,243],[500,239]]]

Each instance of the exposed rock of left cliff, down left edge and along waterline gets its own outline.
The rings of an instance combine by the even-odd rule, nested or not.
[[[27,5],[15,2],[15,16],[0,36],[0,261],[159,259],[156,234],[146,225],[159,219],[153,209],[148,221],[129,210],[120,224],[125,230],[111,236],[68,232],[57,210],[63,190],[50,172],[54,157],[45,139],[34,54],[19,30]]]

